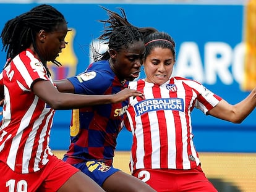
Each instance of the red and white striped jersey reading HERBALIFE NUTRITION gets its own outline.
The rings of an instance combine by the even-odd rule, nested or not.
[[[145,94],[145,99],[130,98],[124,118],[133,134],[131,171],[197,167],[190,113],[196,107],[206,114],[221,98],[197,81],[181,77],[161,86],[132,81],[129,87]]]

